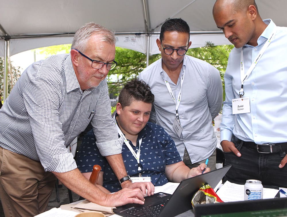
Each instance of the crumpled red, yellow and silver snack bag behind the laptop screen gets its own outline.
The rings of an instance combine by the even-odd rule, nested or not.
[[[210,185],[203,185],[199,190],[193,195],[191,204],[194,208],[197,204],[210,204],[210,203],[222,203],[223,201],[217,196],[215,191]]]

